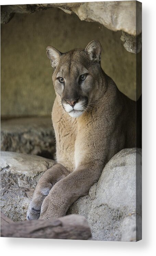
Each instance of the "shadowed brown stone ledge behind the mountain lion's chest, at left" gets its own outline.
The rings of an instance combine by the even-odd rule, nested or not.
[[[52,159],[55,135],[50,117],[1,121],[1,150],[39,155]]]

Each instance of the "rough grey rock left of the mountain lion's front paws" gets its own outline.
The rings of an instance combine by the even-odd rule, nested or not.
[[[1,152],[1,211],[14,221],[26,220],[34,189],[53,160],[14,152]]]

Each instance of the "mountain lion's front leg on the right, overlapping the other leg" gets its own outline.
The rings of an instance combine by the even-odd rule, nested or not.
[[[58,181],[50,190],[41,206],[40,219],[59,218],[80,196],[88,194],[91,186],[98,181],[103,167],[82,166]]]

